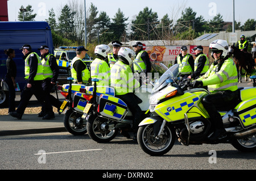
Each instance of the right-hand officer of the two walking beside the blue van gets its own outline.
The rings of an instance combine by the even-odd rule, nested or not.
[[[42,45],[38,50],[40,50],[41,61],[43,65],[44,81],[42,87],[43,90],[46,92],[46,99],[50,100],[52,106],[56,107],[59,110],[61,102],[50,94],[53,86],[55,86],[57,82],[57,78],[59,75],[59,66],[57,65],[55,56],[49,53],[49,47],[47,47],[47,45]],[[44,115],[45,111],[42,110],[38,114],[38,117],[43,117]]]

